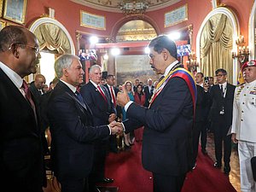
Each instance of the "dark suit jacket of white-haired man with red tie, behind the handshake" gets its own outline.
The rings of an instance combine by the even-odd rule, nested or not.
[[[95,125],[108,124],[109,114],[115,113],[113,102],[111,101],[109,93],[107,93],[107,88],[102,86],[102,90],[105,92],[108,102],[104,100],[101,93],[91,82],[84,84],[80,89],[81,95],[90,106],[93,113],[93,122]]]

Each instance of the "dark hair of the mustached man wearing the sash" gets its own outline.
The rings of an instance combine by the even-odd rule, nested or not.
[[[150,44],[148,44],[148,47],[154,47],[154,51],[156,51],[159,54],[163,49],[167,49],[170,55],[172,55],[172,57],[177,59],[176,44],[166,35],[160,35],[157,38],[154,38],[150,42]]]

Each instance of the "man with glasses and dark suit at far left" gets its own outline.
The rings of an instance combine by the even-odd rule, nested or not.
[[[42,192],[46,181],[38,106],[24,77],[37,72],[38,40],[21,26],[0,32],[0,181],[4,191]]]

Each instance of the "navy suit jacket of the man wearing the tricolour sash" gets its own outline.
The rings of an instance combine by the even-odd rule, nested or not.
[[[126,132],[144,125],[143,166],[146,170],[171,176],[189,171],[193,102],[183,79],[172,78],[149,109],[133,102],[127,117]]]

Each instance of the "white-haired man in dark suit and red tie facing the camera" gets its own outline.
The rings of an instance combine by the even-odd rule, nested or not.
[[[115,109],[108,90],[101,85],[102,67],[93,65],[89,71],[90,81],[81,87],[80,92],[92,111],[94,125],[105,125],[116,118]],[[91,190],[95,189],[96,183],[112,183],[113,179],[105,177],[105,161],[109,140],[95,143],[94,163],[89,177]]]

